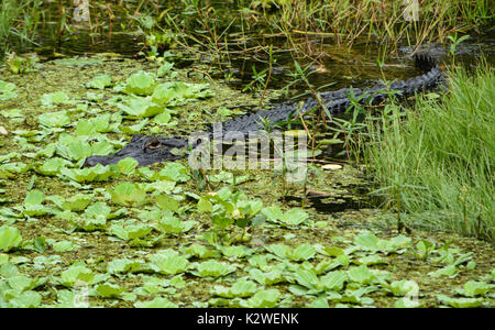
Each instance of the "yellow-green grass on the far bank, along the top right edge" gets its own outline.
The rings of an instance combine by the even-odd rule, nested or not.
[[[411,44],[439,38],[454,31],[465,32],[493,22],[490,0],[424,0],[417,3],[417,14],[405,13],[404,1],[261,1],[276,7],[264,11],[265,23],[286,35],[321,33],[334,35],[338,42],[352,44],[358,37],[399,41]],[[251,3],[260,3],[252,1]]]

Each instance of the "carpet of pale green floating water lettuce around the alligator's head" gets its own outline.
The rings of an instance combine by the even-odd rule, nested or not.
[[[301,209],[298,199],[280,199],[276,173],[201,175],[185,160],[139,167],[129,157],[81,167],[89,155],[121,147],[130,139],[123,128],[178,134],[210,122],[219,108],[235,116],[258,99],[198,84],[175,68],[174,78],[170,72],[156,75],[145,97],[110,86],[88,97],[95,89],[86,84],[99,75],[119,86],[161,64],[44,65],[56,75],[44,72],[50,84],[43,88],[31,88],[41,73],[13,76],[3,68],[6,80],[21,87],[12,89],[18,98],[30,102],[11,99],[1,111],[12,135],[0,141],[0,307],[493,305],[495,271],[485,243],[446,233],[397,234],[384,220],[387,213],[374,209],[323,212],[310,198]],[[66,79],[76,72],[79,80]],[[54,86],[70,88],[53,88],[54,79]],[[53,108],[40,107],[43,95],[51,95],[45,103]],[[134,97],[157,103],[153,96],[169,108],[153,118],[118,106]],[[173,121],[180,124],[160,123]],[[308,191],[333,201],[366,186],[362,172],[342,165],[322,170],[309,164]],[[285,189],[301,195],[298,185]]]

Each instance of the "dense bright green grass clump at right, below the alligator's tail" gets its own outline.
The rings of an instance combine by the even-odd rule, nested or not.
[[[457,69],[449,89],[369,119],[364,160],[400,221],[493,241],[494,69],[484,64],[474,76]]]

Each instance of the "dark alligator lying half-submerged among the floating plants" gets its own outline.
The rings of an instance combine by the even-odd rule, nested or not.
[[[351,105],[352,95],[354,99],[367,105],[381,105],[387,99],[393,90],[395,97],[405,99],[417,92],[436,88],[443,79],[442,72],[439,69],[437,62],[428,54],[416,54],[414,56],[415,65],[424,72],[422,75],[407,80],[399,80],[385,86],[378,84],[374,87],[364,89],[343,88],[336,91],[326,91],[319,94],[319,98],[310,97],[305,102],[285,101],[273,105],[270,109],[258,110],[254,113],[233,118],[222,122],[222,136],[227,136],[231,132],[235,134],[248,135],[262,129],[262,122],[268,122],[272,125],[290,119],[307,114],[308,112],[319,109],[328,114],[338,114],[345,111]],[[207,138],[213,136],[212,130],[207,132]],[[154,163],[175,161],[184,157],[174,152],[174,148],[195,147],[189,145],[187,138],[164,138],[134,134],[131,142],[122,150],[111,155],[94,155],[86,160],[85,167],[95,166],[97,164],[109,165],[117,164],[125,157],[132,157],[138,161],[140,166],[147,166]]]

